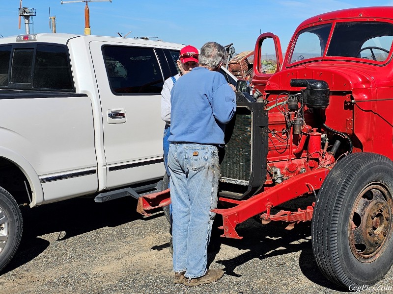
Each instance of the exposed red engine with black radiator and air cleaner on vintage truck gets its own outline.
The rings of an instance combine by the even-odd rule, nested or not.
[[[290,85],[305,89],[260,100],[237,93],[236,116],[225,133],[221,196],[250,197],[352,152],[350,137],[324,123],[328,84],[291,79]]]

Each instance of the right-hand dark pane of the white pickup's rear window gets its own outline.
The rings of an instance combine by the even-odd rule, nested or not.
[[[33,76],[34,88],[71,90],[73,83],[66,49],[37,45]]]

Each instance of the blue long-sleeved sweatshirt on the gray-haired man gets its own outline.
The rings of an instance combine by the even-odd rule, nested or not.
[[[219,72],[204,67],[182,75],[170,92],[170,142],[223,144],[236,111],[235,93]]]

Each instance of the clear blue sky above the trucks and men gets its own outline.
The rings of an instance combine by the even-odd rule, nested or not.
[[[58,33],[84,33],[84,2],[60,4],[60,0],[22,0],[36,9],[30,33],[50,32],[49,7],[56,16]],[[112,0],[89,2],[91,34],[128,38],[154,36],[163,41],[191,44],[198,49],[207,41],[233,43],[237,53],[253,50],[260,32],[280,37],[285,51],[295,28],[305,19],[328,11],[393,5],[393,0]],[[12,36],[18,29],[19,0],[0,0],[0,34]]]

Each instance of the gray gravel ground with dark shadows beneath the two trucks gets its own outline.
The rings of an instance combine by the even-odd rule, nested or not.
[[[26,208],[24,237],[1,272],[0,293],[344,293],[318,270],[309,224],[287,231],[252,219],[237,227],[243,240],[213,233],[209,263],[225,270],[223,278],[175,285],[168,222],[162,212],[142,218],[136,203],[72,199]],[[377,286],[393,286],[393,270]]]

